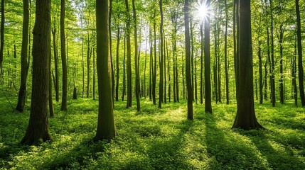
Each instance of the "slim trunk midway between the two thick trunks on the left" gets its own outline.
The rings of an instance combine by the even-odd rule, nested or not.
[[[60,47],[61,62],[63,64],[63,96],[60,111],[67,111],[67,58],[65,56],[65,0],[61,0],[60,6]]]

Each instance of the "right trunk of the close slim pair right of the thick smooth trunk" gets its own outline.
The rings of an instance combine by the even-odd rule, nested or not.
[[[134,0],[132,0],[132,11],[134,16],[134,70],[136,71],[136,99],[137,111],[140,111],[140,74],[139,74],[139,59],[138,59],[138,37],[137,37],[137,13]],[[140,36],[141,37],[141,36]]]

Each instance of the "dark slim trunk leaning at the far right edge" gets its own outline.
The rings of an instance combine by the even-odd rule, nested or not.
[[[299,9],[299,0],[296,0],[296,36],[298,42],[298,69],[299,69],[299,89],[302,107],[305,106],[305,96],[304,96],[304,70],[302,62],[302,44],[301,44],[301,17]]]

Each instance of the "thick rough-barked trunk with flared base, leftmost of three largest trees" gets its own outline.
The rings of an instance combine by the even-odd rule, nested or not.
[[[31,114],[24,145],[40,145],[50,140],[48,126],[48,60],[50,55],[50,0],[36,1],[33,28],[33,80]]]

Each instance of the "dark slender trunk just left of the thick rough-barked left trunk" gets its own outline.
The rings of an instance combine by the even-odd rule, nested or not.
[[[29,8],[28,0],[23,0],[23,26],[22,26],[22,46],[21,46],[21,76],[16,111],[23,112],[26,104],[26,81],[28,79],[28,22]]]

